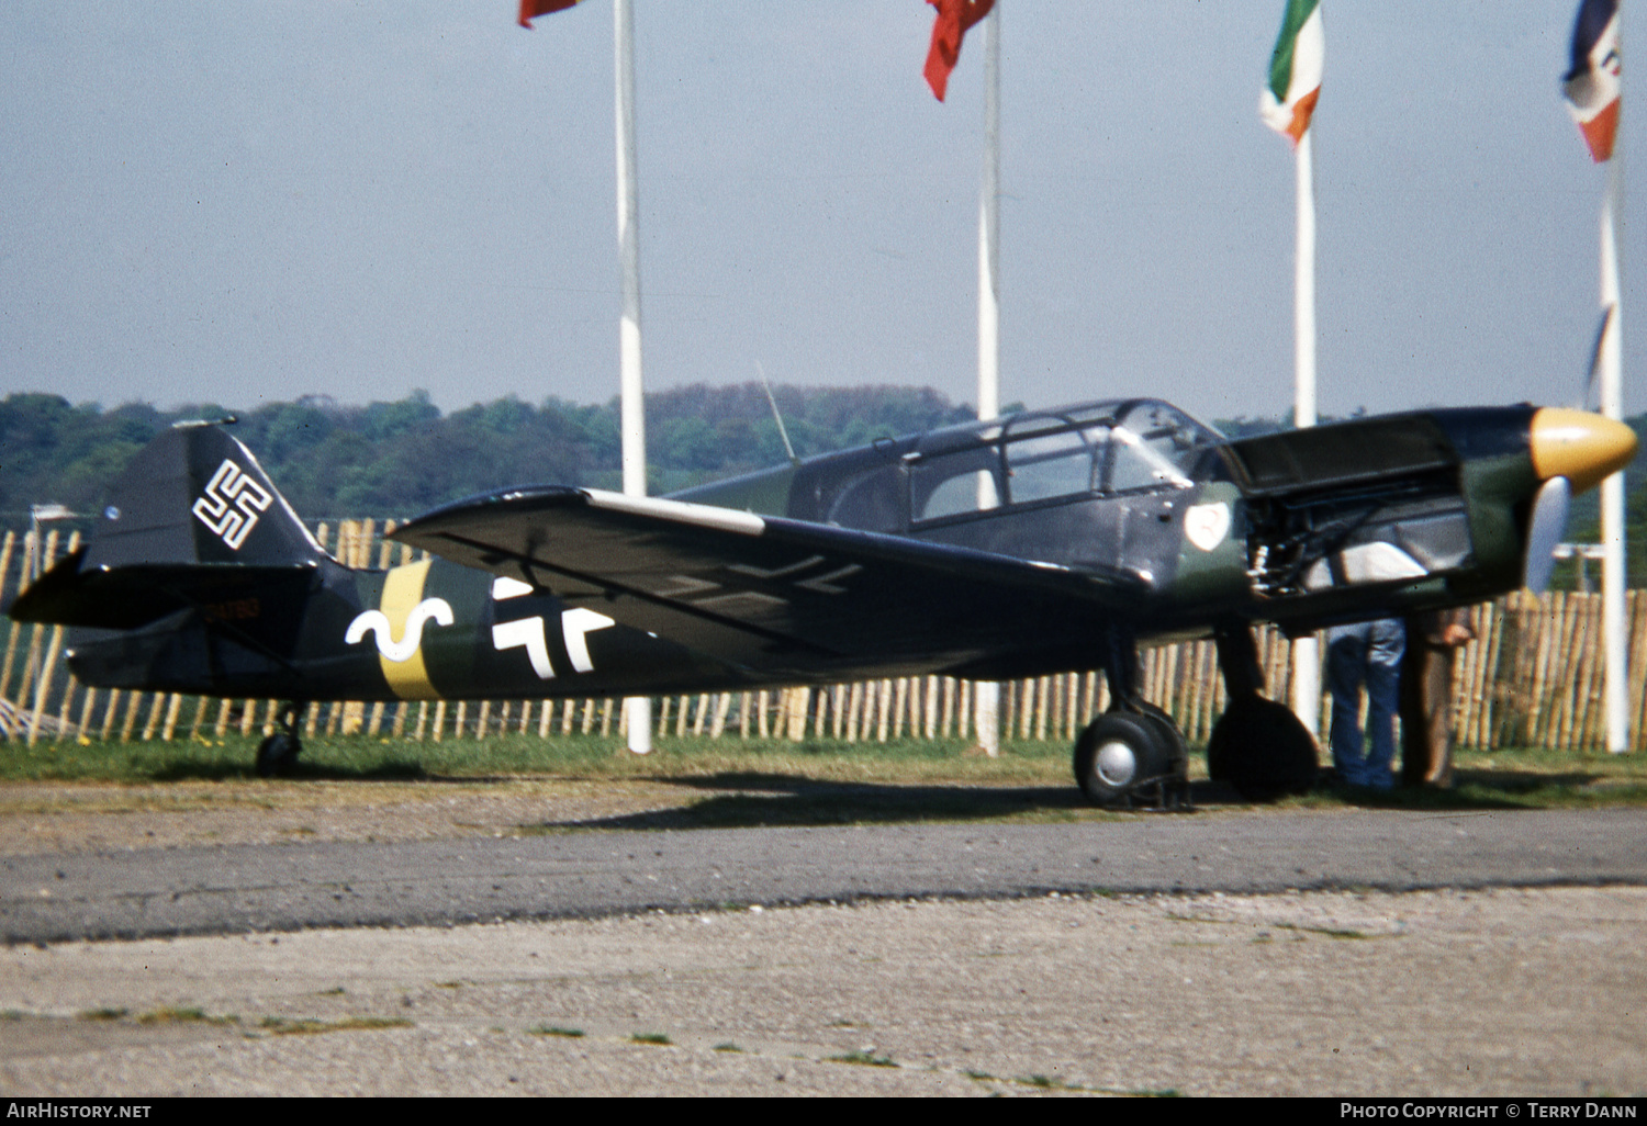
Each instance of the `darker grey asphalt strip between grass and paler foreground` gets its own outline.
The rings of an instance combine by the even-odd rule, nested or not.
[[[456,925],[893,897],[1647,884],[1647,810],[568,831],[0,861],[0,937]]]

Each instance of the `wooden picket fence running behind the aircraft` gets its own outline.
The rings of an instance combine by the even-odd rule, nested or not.
[[[394,522],[321,523],[316,538],[351,566],[412,561],[405,545],[380,538]],[[21,589],[79,533],[7,532],[0,542],[0,598]],[[61,548],[61,551],[59,551]],[[1627,594],[1632,749],[1647,744],[1647,591]],[[1601,596],[1519,591],[1471,609],[1476,640],[1461,650],[1454,731],[1461,746],[1599,749],[1604,744]],[[1270,695],[1286,700],[1291,647],[1278,630],[1258,630]],[[1164,708],[1192,742],[1204,742],[1222,710],[1224,682],[1212,642],[1145,650],[1145,696]],[[832,739],[970,739],[975,685],[950,677],[903,677],[822,688],[664,696],[654,716],[659,736]],[[176,739],[272,733],[273,700],[184,698],[176,693],[97,690],[63,667],[63,629],[8,622],[0,662],[0,737]],[[1072,742],[1108,706],[1103,677],[1072,672],[1008,682],[1001,688],[1001,737]],[[1321,701],[1326,731],[1329,701]],[[362,734],[394,739],[456,739],[496,734],[623,734],[623,708],[609,698],[529,701],[311,703],[306,736]]]

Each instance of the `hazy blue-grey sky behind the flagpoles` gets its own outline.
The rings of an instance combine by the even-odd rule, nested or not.
[[[1293,161],[1257,114],[1281,8],[1000,0],[1003,400],[1290,407]],[[1323,412],[1579,395],[1606,176],[1560,99],[1575,8],[1326,0]],[[939,104],[921,0],[636,23],[647,385],[759,362],[972,402],[982,36]],[[13,0],[0,393],[609,398],[611,31],[609,0],[532,31],[511,0]]]

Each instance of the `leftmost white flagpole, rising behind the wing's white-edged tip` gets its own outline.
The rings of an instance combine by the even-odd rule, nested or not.
[[[623,319],[618,324],[619,430],[623,433],[623,491],[646,496],[646,403],[641,380],[641,194],[634,160],[634,12],[631,0],[613,0],[618,119],[618,257],[623,263]],[[652,700],[623,701],[629,749],[652,751]]]

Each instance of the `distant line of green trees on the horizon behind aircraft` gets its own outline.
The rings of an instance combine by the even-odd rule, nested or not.
[[[970,405],[927,387],[781,385],[772,397],[800,458],[975,416]],[[252,412],[217,403],[105,410],[72,405],[61,395],[16,393],[0,402],[0,515],[20,527],[31,504],[96,512],[114,477],[156,433],[180,420],[231,415],[239,418],[231,433],[308,519],[405,519],[511,484],[616,489],[621,481],[616,398],[581,405],[550,397],[534,407],[511,395],[443,415],[422,390],[366,407],[305,395]],[[787,456],[759,384],[649,393],[646,425],[654,494],[779,464]],[[1290,420],[1242,416],[1214,425],[1240,438],[1281,430]],[[1631,425],[1647,431],[1647,415]],[[1631,579],[1647,586],[1647,474],[1632,472],[1629,486]],[[1594,492],[1579,497],[1570,538],[1593,542],[1596,512]],[[1573,565],[1558,571],[1561,584],[1575,576]]]

